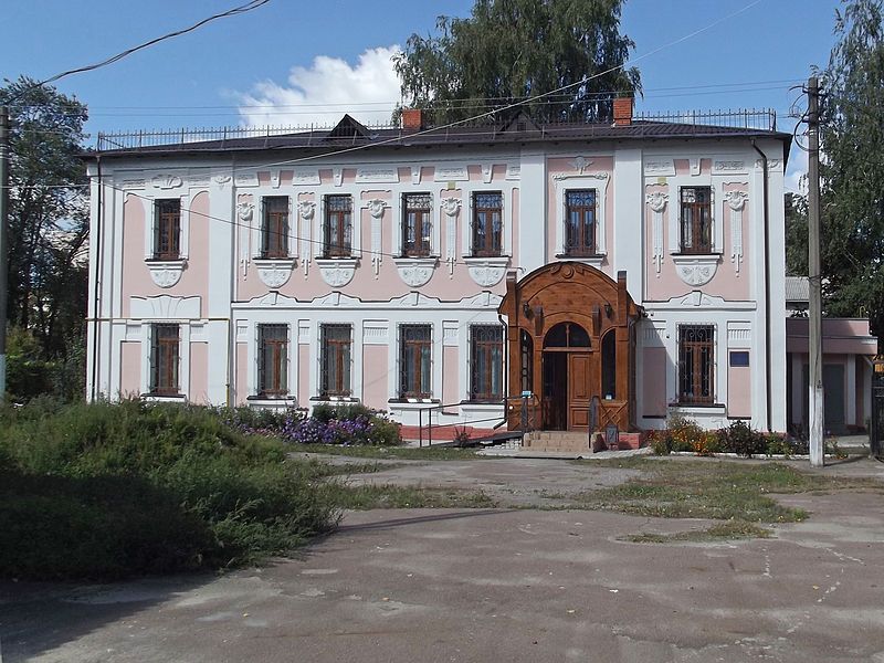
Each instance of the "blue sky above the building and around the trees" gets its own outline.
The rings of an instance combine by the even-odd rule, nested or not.
[[[2,0],[0,75],[45,78],[242,1]],[[635,42],[633,56],[641,57],[751,2],[627,0],[622,32]],[[789,87],[806,80],[811,65],[824,66],[828,61],[840,4],[839,0],[762,0],[642,57],[636,62],[645,88],[640,108],[771,107],[786,115],[798,96]],[[322,55],[355,66],[365,51],[403,44],[412,32],[431,31],[438,14],[467,15],[471,7],[472,0],[272,0],[249,14],[71,76],[57,87],[88,105],[87,127],[93,134],[235,125],[241,95],[260,82],[290,86],[292,67],[311,70]],[[720,87],[711,87],[716,85]],[[347,98],[346,90],[337,93]],[[343,114],[346,108],[334,110]],[[781,126],[788,128],[786,123]]]

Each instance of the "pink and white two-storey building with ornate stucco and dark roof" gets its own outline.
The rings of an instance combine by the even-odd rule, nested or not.
[[[345,118],[309,136],[99,151],[90,396],[346,400],[406,423],[439,403],[442,423],[491,428],[520,391],[498,313],[507,278],[575,262],[624,273],[640,307],[634,425],[678,411],[785,431],[788,147],[771,130],[627,116],[457,135]]]

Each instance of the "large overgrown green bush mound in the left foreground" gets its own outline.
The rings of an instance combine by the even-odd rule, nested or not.
[[[0,576],[223,568],[284,554],[337,518],[280,440],[209,408],[3,409],[0,471]]]

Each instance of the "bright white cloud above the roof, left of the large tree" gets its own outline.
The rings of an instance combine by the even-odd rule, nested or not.
[[[392,56],[399,46],[365,51],[355,65],[318,55],[309,67],[295,66],[285,85],[257,83],[239,94],[241,123],[248,127],[334,126],[349,113],[362,123],[390,120],[399,99]]]

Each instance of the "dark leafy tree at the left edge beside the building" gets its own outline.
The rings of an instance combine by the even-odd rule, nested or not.
[[[55,357],[82,333],[86,312],[86,107],[24,76],[6,81],[0,104],[12,124],[9,320]]]

